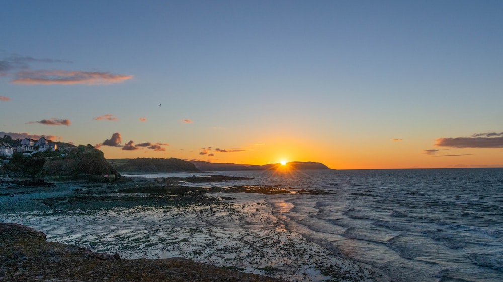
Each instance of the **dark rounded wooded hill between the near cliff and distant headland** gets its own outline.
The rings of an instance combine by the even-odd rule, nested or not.
[[[119,172],[199,172],[196,166],[177,158],[136,158],[107,159],[108,163]]]

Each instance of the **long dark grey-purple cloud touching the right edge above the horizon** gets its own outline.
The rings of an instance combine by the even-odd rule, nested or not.
[[[502,135],[503,133],[483,133],[474,134],[475,137],[438,138],[434,145],[454,148],[503,148]]]

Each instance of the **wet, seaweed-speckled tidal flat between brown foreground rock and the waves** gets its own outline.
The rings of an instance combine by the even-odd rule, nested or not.
[[[63,204],[54,206],[66,209],[54,209],[54,206],[32,211],[15,209],[0,214],[0,221],[21,223],[43,231],[50,241],[75,244],[98,252],[119,253],[126,259],[184,257],[289,281],[387,280],[377,269],[340,258],[287,230],[266,202],[282,196],[211,193],[207,197],[212,199],[203,202],[157,196],[160,203],[151,204],[153,200],[147,201],[148,195],[140,193],[122,196],[129,200],[133,198],[132,205],[107,204],[116,197],[112,194],[117,186],[140,184],[154,182],[136,179],[132,183],[115,185],[115,188],[112,188],[114,185],[101,188],[68,185],[66,189],[72,192],[65,194],[67,198],[77,189],[84,190],[88,198],[97,195],[103,198],[65,205],[65,197],[60,197]],[[66,200],[71,201],[71,198]],[[134,205],[134,202],[140,205]],[[92,208],[86,209],[86,206]]]

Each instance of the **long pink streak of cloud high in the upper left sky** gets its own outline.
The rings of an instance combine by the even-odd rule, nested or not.
[[[22,71],[11,81],[17,84],[112,84],[133,78],[132,75],[111,74],[107,72],[39,70]]]

